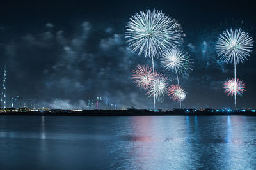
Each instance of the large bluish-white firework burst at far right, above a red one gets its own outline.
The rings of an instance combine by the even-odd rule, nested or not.
[[[249,36],[249,32],[241,29],[224,31],[216,42],[217,55],[227,63],[239,64],[239,62],[243,62],[252,52],[252,48],[253,38]]]

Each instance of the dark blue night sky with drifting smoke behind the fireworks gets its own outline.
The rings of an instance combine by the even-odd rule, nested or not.
[[[136,64],[151,66],[150,59],[132,53],[124,33],[129,17],[154,8],[178,20],[186,34],[181,48],[194,67],[180,79],[187,92],[183,105],[232,107],[234,99],[223,92],[222,83],[233,77],[233,67],[218,59],[214,45],[218,34],[231,27],[256,38],[252,1],[1,2],[0,71],[2,83],[6,64],[8,104],[20,95],[25,101],[79,101],[85,108],[88,99],[102,97],[118,108],[152,108],[152,99],[131,80]],[[246,84],[237,107],[256,104],[254,49],[237,66],[237,78]],[[163,72],[159,60],[155,65]],[[172,81],[171,76],[169,85]],[[179,103],[166,96],[156,107],[172,109]]]

